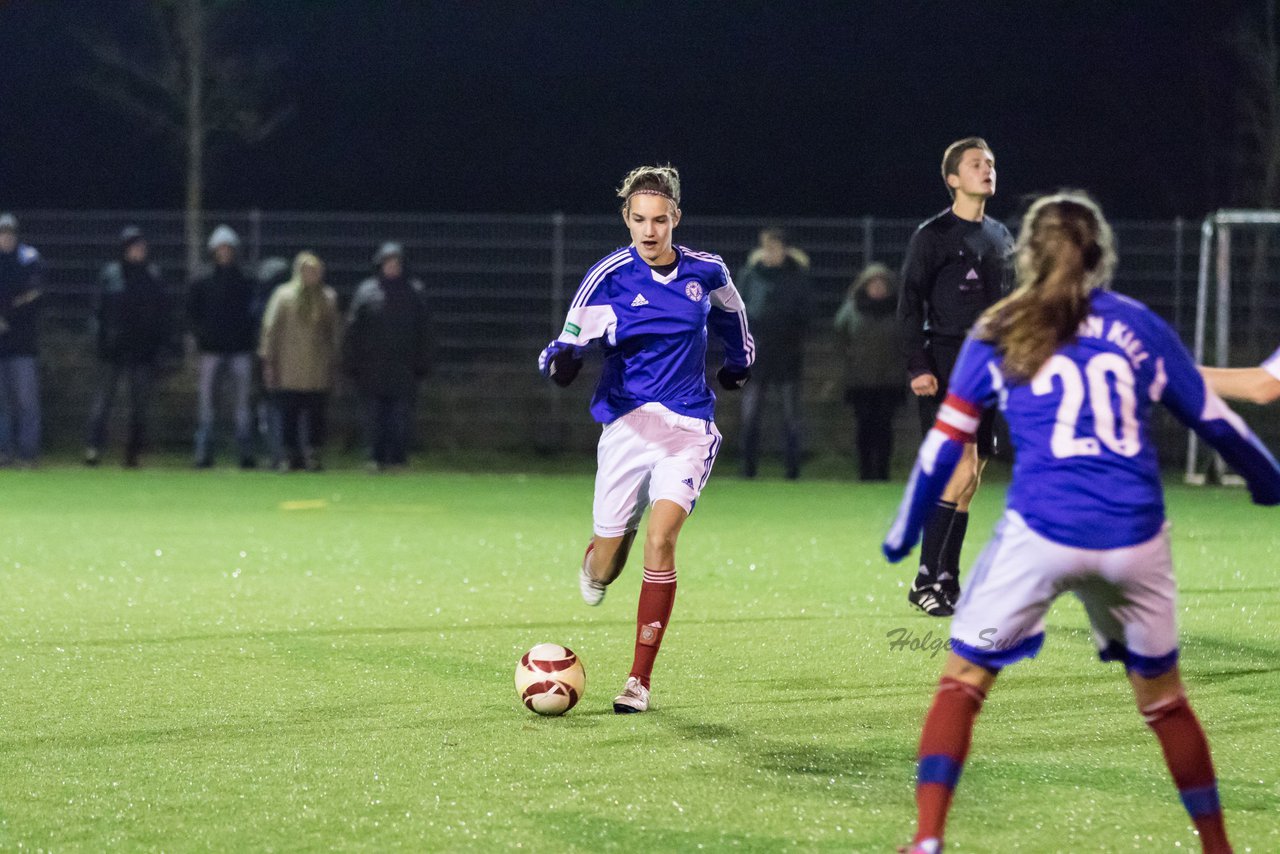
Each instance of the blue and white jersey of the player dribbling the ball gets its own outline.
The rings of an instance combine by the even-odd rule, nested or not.
[[[570,305],[559,341],[604,347],[604,369],[591,416],[608,424],[644,403],[710,420],[707,330],[724,343],[724,364],[746,367],[755,344],[746,309],[718,255],[676,246],[676,268],[663,275],[635,247],[593,266]]]

